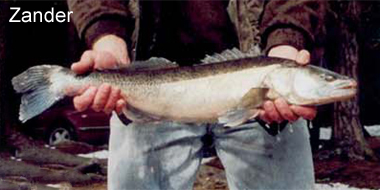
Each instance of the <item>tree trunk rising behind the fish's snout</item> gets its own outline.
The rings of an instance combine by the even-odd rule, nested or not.
[[[358,29],[360,25],[360,2],[331,2],[338,22],[336,30],[339,36],[338,56],[335,70],[358,81],[359,43]],[[376,156],[366,142],[359,120],[358,95],[353,99],[336,103],[334,106],[334,142],[347,159],[376,160]]]

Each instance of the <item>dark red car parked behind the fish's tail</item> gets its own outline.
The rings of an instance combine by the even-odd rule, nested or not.
[[[108,142],[109,120],[110,115],[104,112],[78,112],[71,100],[64,100],[28,122],[27,128],[50,145],[65,140],[104,144]]]

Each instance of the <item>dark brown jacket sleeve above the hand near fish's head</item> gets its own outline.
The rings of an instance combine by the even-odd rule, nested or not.
[[[265,52],[277,45],[311,50],[314,43],[323,41],[326,3],[324,0],[267,1],[260,23]]]

